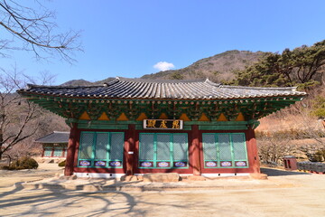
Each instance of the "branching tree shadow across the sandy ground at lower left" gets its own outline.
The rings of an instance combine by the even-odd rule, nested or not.
[[[123,183],[112,185],[111,191],[82,192],[78,191],[81,185],[76,185],[76,190],[37,187],[27,190],[17,183],[8,192],[0,193],[0,210],[4,211],[1,216],[149,216],[143,206],[187,208],[186,204],[148,201],[141,191],[136,196],[119,191]]]

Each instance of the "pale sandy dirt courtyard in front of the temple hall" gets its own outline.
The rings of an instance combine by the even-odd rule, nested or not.
[[[25,176],[22,172],[16,180],[40,179],[58,170]],[[26,190],[21,184],[8,186],[14,174],[0,172],[0,216],[325,216],[325,175],[274,169],[264,173],[268,182],[288,187],[97,193]]]

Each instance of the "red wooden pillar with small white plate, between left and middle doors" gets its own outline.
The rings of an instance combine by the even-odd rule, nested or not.
[[[135,164],[135,125],[128,125],[125,134],[125,174],[134,175]]]

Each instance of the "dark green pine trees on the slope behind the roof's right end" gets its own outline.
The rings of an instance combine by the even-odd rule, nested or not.
[[[298,86],[311,90],[324,85],[325,40],[283,52],[266,52],[263,58],[237,71],[235,85],[252,87]]]

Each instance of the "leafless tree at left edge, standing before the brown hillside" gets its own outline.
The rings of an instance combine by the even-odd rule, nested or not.
[[[0,74],[0,159],[15,145],[32,137],[40,126],[42,110],[15,93],[23,88],[26,80],[16,68],[2,70]],[[51,79],[42,80],[51,82]]]

